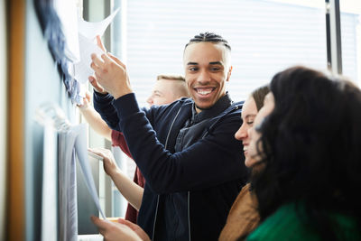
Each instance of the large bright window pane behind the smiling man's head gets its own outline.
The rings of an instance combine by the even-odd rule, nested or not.
[[[183,74],[184,45],[206,31],[232,46],[234,100],[290,65],[327,68],[324,0],[127,1],[125,58],[141,106],[158,74]]]

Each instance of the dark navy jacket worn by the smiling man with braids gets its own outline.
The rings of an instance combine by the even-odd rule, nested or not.
[[[94,107],[123,132],[145,177],[138,224],[152,240],[218,240],[247,180],[234,137],[242,105],[226,95],[195,116],[190,98],[141,110],[134,94],[95,94]]]

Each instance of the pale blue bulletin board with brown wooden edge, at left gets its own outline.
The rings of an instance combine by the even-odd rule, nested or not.
[[[42,240],[43,127],[35,120],[37,108],[44,102],[55,103],[70,122],[76,120],[61,61],[56,60],[44,38],[34,2],[8,1],[6,240],[11,241]]]

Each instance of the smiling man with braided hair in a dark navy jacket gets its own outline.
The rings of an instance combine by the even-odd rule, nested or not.
[[[110,54],[92,55],[91,67],[107,95],[94,106],[122,131],[146,180],[138,224],[152,240],[218,240],[247,171],[234,134],[241,105],[226,92],[230,46],[221,36],[200,33],[186,45],[183,63],[191,98],[141,110],[125,65]],[[99,224],[101,220],[96,220]],[[100,227],[100,226],[99,226]],[[102,223],[103,235],[115,232]]]

